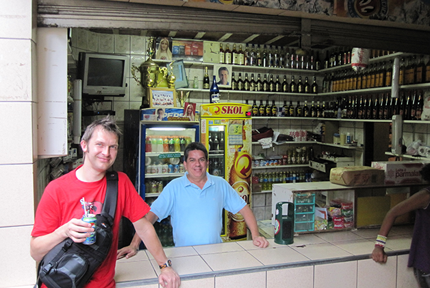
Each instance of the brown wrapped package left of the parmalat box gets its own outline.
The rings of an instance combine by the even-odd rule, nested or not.
[[[368,166],[336,167],[330,170],[330,182],[346,186],[383,184],[385,172]]]

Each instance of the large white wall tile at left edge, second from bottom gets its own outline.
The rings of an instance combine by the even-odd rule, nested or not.
[[[34,224],[33,189],[33,164],[0,165],[0,227]]]

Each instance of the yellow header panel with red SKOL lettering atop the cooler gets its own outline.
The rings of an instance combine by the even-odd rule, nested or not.
[[[237,103],[203,104],[201,117],[251,117],[251,105]]]

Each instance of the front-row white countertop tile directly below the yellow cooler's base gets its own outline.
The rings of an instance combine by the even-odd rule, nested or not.
[[[262,263],[246,251],[205,254],[201,257],[214,271],[262,266]]]

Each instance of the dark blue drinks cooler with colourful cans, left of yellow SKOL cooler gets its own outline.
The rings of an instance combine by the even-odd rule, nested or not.
[[[151,204],[170,180],[183,176],[184,149],[199,141],[199,121],[184,117],[184,108],[160,108],[124,111],[124,167],[136,190]],[[198,112],[197,112],[198,119]],[[154,225],[164,246],[173,245],[168,219]],[[125,225],[123,242],[129,243],[133,228]]]

